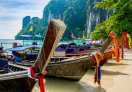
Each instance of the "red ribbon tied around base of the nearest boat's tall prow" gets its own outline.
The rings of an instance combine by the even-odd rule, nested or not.
[[[31,77],[33,79],[39,79],[39,87],[40,87],[40,92],[45,92],[45,83],[44,83],[44,76],[46,74],[46,71],[44,72],[44,74],[39,74],[37,77],[35,76],[35,71],[33,67],[30,67],[30,73],[31,73]]]

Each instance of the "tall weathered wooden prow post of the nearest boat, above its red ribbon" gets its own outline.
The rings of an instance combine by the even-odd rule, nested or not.
[[[38,56],[36,63],[34,64],[36,73],[44,72],[53,52],[55,51],[57,43],[66,29],[65,24],[59,20],[51,21],[48,28],[43,47],[40,51],[41,54]]]

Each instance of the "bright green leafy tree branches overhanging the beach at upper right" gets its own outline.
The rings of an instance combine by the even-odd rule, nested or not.
[[[96,25],[95,33],[103,30],[108,35],[110,31],[114,31],[119,38],[121,33],[126,31],[132,37],[132,0],[102,0],[96,4],[96,7],[111,10],[113,14]]]

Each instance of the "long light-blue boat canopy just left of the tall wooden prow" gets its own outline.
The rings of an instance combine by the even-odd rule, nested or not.
[[[24,51],[26,49],[30,48],[41,48],[40,45],[30,45],[30,46],[23,46],[23,47],[16,47],[16,48],[10,48],[9,51]]]

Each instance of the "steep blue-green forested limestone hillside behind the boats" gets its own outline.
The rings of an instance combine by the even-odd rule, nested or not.
[[[43,18],[31,18],[26,27],[16,36],[16,39],[23,39],[22,34],[43,34],[46,33],[49,19],[62,19],[67,25],[63,40],[87,36],[88,32],[94,30],[96,23],[106,19],[108,12],[95,7],[99,0],[51,0],[44,8]],[[24,23],[23,23],[24,24]],[[33,31],[30,32],[30,27]],[[37,38],[35,38],[37,39]]]

